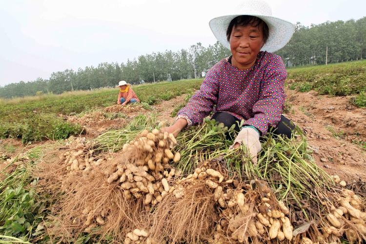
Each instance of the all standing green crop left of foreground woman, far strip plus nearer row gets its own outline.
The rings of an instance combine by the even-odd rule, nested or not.
[[[170,100],[199,89],[202,79],[159,82],[133,86],[146,106]],[[81,126],[62,120],[58,114],[82,113],[117,102],[118,89],[17,99],[0,104],[0,138],[18,138],[22,142],[65,139],[81,133]],[[147,103],[147,104],[146,104]]]

